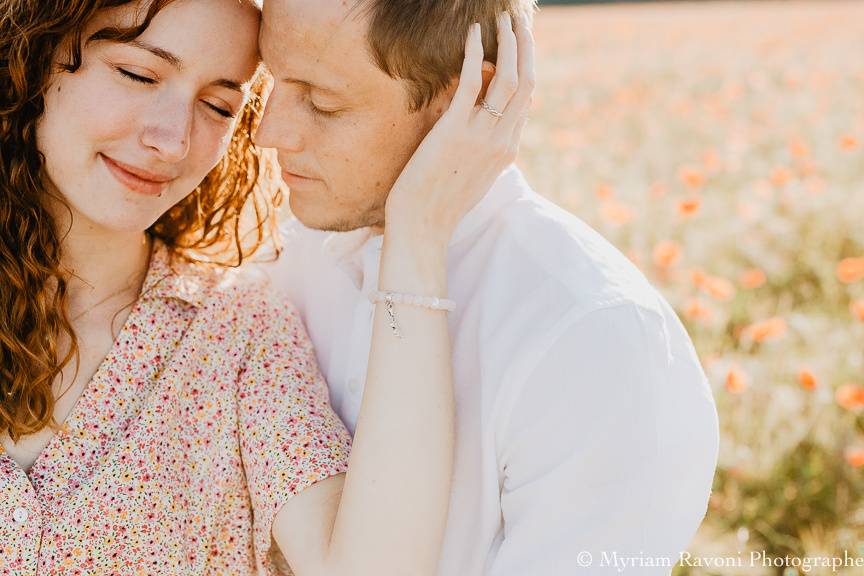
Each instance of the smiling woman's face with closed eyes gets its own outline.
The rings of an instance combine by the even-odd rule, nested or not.
[[[144,13],[100,13],[81,67],[58,72],[45,95],[38,146],[76,226],[143,232],[190,194],[225,153],[258,66],[247,1],[177,0],[130,43],[86,42]]]

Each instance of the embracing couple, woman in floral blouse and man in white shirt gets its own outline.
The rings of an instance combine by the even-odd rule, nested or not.
[[[0,574],[674,563],[716,411],[510,165],[532,9],[0,0]]]

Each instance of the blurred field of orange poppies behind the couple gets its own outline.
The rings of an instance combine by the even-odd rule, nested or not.
[[[691,553],[864,556],[864,2],[548,6],[536,37],[520,164],[655,282],[714,388]]]

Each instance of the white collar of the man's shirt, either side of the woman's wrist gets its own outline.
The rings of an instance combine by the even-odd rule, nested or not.
[[[502,208],[529,189],[522,172],[515,165],[510,165],[499,175],[489,192],[456,226],[450,247],[479,232]],[[357,290],[371,296],[377,290],[383,242],[383,235],[373,233],[370,228],[360,228],[351,232],[329,234],[323,247],[336,266],[351,279]]]

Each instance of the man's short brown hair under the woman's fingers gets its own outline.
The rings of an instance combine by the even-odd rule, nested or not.
[[[408,84],[410,106],[420,110],[459,76],[468,28],[483,29],[485,59],[498,55],[497,17],[530,18],[536,0],[359,0],[368,19],[373,61]]]

